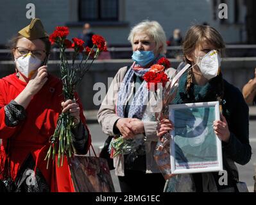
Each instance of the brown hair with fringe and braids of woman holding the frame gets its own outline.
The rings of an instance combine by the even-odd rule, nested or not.
[[[191,61],[189,61],[186,56],[191,56],[194,50],[198,46],[202,45],[203,42],[207,42],[213,45],[217,50],[221,51],[221,54],[224,53],[225,43],[216,29],[210,26],[195,25],[189,28],[183,40],[182,47],[185,62],[191,64]],[[187,74],[186,94],[190,100],[193,100],[191,99],[193,96],[191,90],[192,75],[192,69],[189,69]],[[221,72],[219,72],[218,77],[214,79],[214,85],[216,85],[216,99],[219,102],[222,102],[224,95],[224,85]]]

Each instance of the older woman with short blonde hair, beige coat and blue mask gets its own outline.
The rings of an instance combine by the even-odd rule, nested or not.
[[[107,135],[122,135],[124,138],[138,138],[144,135],[142,154],[130,160],[129,154],[114,158],[115,174],[119,178],[122,192],[162,192],[164,177],[153,158],[158,141],[158,123],[146,112],[148,97],[146,82],[142,76],[166,51],[166,35],[156,21],[145,20],[130,31],[134,61],[130,67],[122,67],[115,75],[108,93],[98,112],[98,121]],[[175,69],[166,69],[169,78]],[[153,114],[152,114],[153,115]],[[169,131],[171,123],[166,121],[160,134]],[[151,186],[148,186],[149,182]]]

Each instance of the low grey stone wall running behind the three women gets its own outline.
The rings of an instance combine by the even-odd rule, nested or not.
[[[171,60],[171,66],[176,68],[180,61]],[[253,78],[256,58],[225,58],[222,61],[221,70],[224,78],[237,86],[240,90],[243,85]],[[96,110],[100,104],[95,105],[93,98],[99,90],[93,90],[96,83],[103,83],[106,88],[110,85],[108,78],[114,78],[117,70],[123,66],[131,65],[131,60],[102,60],[95,61],[90,71],[85,75],[78,88],[78,94],[83,102],[85,110]],[[58,61],[49,61],[48,70],[58,76]],[[12,61],[0,61],[0,78],[14,72]],[[111,79],[110,79],[111,80]],[[103,99],[101,99],[103,100]]]

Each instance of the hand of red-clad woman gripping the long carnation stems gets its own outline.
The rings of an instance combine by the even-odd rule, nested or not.
[[[80,122],[80,107],[78,103],[71,101],[70,99],[62,102],[62,113],[69,111],[69,114],[74,117],[74,123]]]

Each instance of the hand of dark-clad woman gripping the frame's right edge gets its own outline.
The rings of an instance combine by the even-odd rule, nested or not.
[[[228,142],[230,139],[230,131],[228,129],[228,122],[226,122],[225,117],[221,114],[221,120],[214,121],[214,133],[223,142]]]

